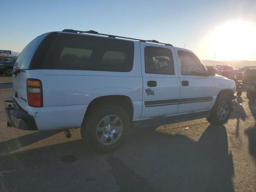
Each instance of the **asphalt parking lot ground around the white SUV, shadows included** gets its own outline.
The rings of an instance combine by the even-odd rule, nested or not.
[[[243,92],[230,120],[206,119],[131,129],[124,145],[96,154],[80,130],[7,128],[4,98],[12,78],[0,76],[0,192],[256,191],[256,102]]]

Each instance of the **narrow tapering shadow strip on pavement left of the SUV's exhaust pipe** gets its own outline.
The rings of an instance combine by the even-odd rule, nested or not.
[[[7,141],[0,142],[0,157],[2,155],[8,154],[19,148],[28,146],[55,134],[58,134],[60,131],[36,131],[18,138],[13,138]]]

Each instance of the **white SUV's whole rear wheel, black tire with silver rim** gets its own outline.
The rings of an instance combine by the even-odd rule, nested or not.
[[[81,136],[96,152],[106,153],[118,148],[130,128],[130,119],[120,106],[99,106],[89,112],[81,126]]]

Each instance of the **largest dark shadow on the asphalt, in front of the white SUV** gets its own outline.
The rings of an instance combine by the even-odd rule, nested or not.
[[[26,155],[10,154],[1,166],[22,168],[15,177],[5,174],[2,182],[2,188],[19,191],[88,191],[89,186],[107,191],[99,188],[108,186],[106,177],[114,177],[122,192],[234,191],[225,126],[208,126],[198,141],[154,128],[138,130],[110,154],[92,153],[81,140],[75,140],[30,150]],[[85,179],[92,174],[95,178]],[[36,179],[32,182],[30,178]]]

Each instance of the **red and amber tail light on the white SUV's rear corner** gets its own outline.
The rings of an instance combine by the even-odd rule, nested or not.
[[[43,106],[42,82],[38,79],[27,79],[28,105],[31,107]]]

